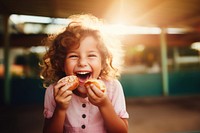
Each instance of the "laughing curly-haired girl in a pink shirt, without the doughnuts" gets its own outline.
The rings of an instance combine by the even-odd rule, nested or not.
[[[117,78],[122,65],[118,41],[104,34],[102,21],[89,14],[72,15],[66,29],[49,36],[41,76],[46,88],[45,133],[127,133],[129,117],[122,86]],[[78,77],[79,86],[58,82]],[[105,83],[106,92],[88,79]]]

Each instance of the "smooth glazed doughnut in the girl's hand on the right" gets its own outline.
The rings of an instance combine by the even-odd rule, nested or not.
[[[98,89],[100,89],[102,92],[106,91],[106,86],[104,84],[104,82],[102,80],[98,80],[98,79],[88,79],[84,86],[89,86],[91,84],[94,84]]]

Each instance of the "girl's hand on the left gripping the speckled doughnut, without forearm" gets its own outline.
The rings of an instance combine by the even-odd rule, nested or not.
[[[54,98],[56,106],[61,110],[66,110],[72,98],[72,91],[69,90],[71,83],[58,82],[54,86]]]

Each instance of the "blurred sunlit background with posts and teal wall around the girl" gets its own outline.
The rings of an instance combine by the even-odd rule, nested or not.
[[[130,133],[200,132],[199,0],[0,0],[0,132],[42,132],[42,41],[91,13],[124,45]],[[2,130],[2,131],[1,131]]]

